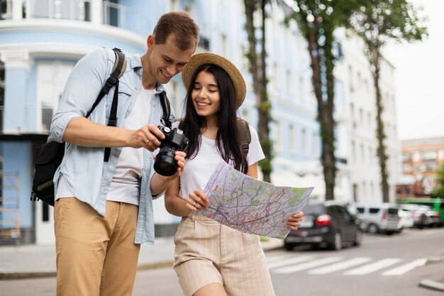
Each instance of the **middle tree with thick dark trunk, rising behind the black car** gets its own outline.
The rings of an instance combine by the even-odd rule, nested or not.
[[[318,105],[317,120],[320,124],[322,143],[321,163],[326,184],[326,200],[334,199],[335,188],[335,119],[333,69],[336,57],[334,31],[346,26],[354,0],[294,0],[284,1],[295,4],[294,11],[287,16],[296,20],[299,30],[308,43],[311,67],[311,84]]]

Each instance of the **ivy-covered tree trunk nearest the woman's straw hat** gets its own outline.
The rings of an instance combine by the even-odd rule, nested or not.
[[[265,49],[265,20],[267,14],[265,11],[266,0],[244,0],[245,16],[247,22],[245,29],[248,34],[248,53],[246,56],[250,62],[250,73],[253,80],[253,89],[256,96],[256,108],[259,117],[257,124],[257,134],[264,150],[265,159],[259,162],[262,175],[265,182],[271,181],[273,146],[270,140],[270,122],[272,121],[272,105],[268,100],[267,93],[267,63],[265,59],[267,52]],[[260,16],[260,26],[255,26],[255,16]],[[257,38],[256,33],[260,33]]]

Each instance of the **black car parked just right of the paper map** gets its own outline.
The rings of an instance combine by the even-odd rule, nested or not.
[[[343,243],[359,246],[362,242],[360,219],[351,214],[347,205],[333,203],[306,204],[304,220],[296,231],[284,239],[284,248],[292,250],[298,244],[310,243],[339,250]]]

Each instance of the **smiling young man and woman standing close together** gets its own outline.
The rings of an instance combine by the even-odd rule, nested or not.
[[[264,158],[251,126],[248,155],[240,148],[242,75],[224,57],[193,55],[198,42],[199,28],[187,13],[160,17],[147,52],[127,57],[115,90],[116,127],[106,126],[113,89],[84,117],[112,70],[113,51],[94,50],[72,70],[50,128],[50,140],[70,143],[55,175],[57,295],[131,295],[140,243],[154,243],[152,199],[164,192],[168,212],[184,217],[174,238],[174,270],[185,295],[274,295],[258,236],[189,216],[209,205],[202,190],[219,160],[257,177]],[[162,176],[152,169],[165,138],[157,128],[160,94],[182,70],[187,98],[179,128],[189,144],[175,153],[177,172]],[[108,162],[104,147],[111,148]],[[302,215],[288,217],[289,229]]]

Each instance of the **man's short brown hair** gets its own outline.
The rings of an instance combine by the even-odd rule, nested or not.
[[[194,48],[199,43],[199,26],[185,11],[171,11],[160,16],[152,32],[156,44],[172,41],[180,50]]]

